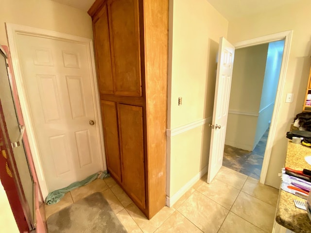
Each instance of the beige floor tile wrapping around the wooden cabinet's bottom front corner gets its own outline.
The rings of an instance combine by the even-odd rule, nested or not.
[[[127,206],[126,210],[144,233],[155,232],[155,230],[175,211],[173,208],[164,206],[155,216],[148,220],[134,203]]]

